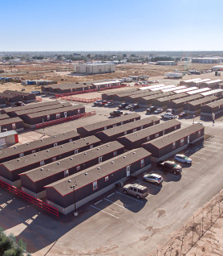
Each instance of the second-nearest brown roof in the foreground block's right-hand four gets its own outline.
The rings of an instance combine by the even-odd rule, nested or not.
[[[162,122],[156,126],[151,126],[143,130],[138,130],[135,133],[124,135],[120,138],[127,138],[130,142],[136,142],[142,138],[146,138],[148,136],[151,136],[152,134],[159,133],[162,130],[166,130],[172,126],[177,126],[179,124],[179,121],[177,121],[176,119],[172,119],[167,122]]]

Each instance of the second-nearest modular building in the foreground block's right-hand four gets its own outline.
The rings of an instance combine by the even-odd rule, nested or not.
[[[181,123],[176,119],[148,127],[144,130],[136,131],[133,134],[124,135],[117,140],[124,145],[127,150],[142,147],[142,144],[154,138],[169,134],[174,130],[180,129]]]

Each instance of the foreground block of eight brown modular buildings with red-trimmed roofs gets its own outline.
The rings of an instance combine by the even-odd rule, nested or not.
[[[177,120],[132,113],[43,138],[0,152],[0,179],[21,187],[60,213],[71,213],[104,192],[124,184],[191,142],[202,141],[205,128],[180,128]],[[75,192],[73,185],[75,184]],[[75,196],[74,196],[75,193]]]

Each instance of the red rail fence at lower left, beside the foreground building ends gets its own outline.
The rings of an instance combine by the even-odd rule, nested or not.
[[[47,211],[48,213],[51,213],[55,215],[56,217],[59,217],[58,209],[55,209],[50,204],[44,203],[42,200],[39,200],[38,198],[35,198],[34,196],[30,196],[29,194],[23,192],[19,188],[15,188],[14,186],[11,186],[10,184],[7,184],[6,182],[0,180],[0,186],[2,188],[8,189],[10,192],[13,192],[15,195],[22,197],[25,200],[28,200],[30,203],[35,204],[39,206],[39,208]]]

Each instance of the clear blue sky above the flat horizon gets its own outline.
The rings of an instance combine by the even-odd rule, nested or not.
[[[0,52],[219,51],[222,7],[222,0],[0,0]]]

